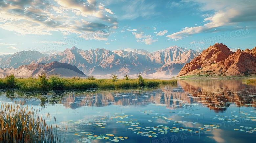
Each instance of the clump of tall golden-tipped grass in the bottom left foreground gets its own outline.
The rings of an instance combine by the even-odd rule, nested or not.
[[[14,105],[2,103],[0,111],[1,142],[55,143],[58,141],[57,133],[53,131],[52,126],[48,126],[43,115],[40,116],[32,107],[22,108],[21,106],[19,103]],[[45,116],[51,120],[48,113]],[[56,121],[55,117],[54,121]]]

